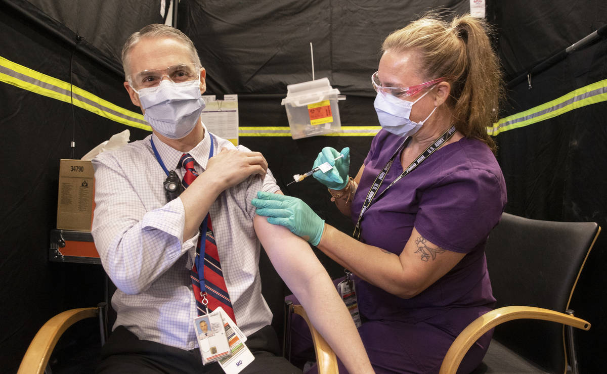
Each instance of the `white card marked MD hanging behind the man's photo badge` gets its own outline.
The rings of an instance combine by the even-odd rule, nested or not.
[[[242,369],[253,362],[255,357],[245,344],[246,336],[242,333],[236,323],[228,316],[222,307],[215,309],[215,312],[221,312],[223,318],[223,327],[228,336],[229,349],[231,355],[225,356],[219,360],[219,365],[226,374],[238,374]]]

